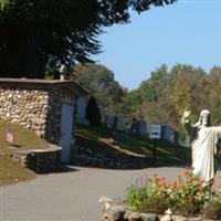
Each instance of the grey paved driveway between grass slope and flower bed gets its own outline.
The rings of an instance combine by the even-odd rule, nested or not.
[[[0,188],[0,221],[98,221],[99,197],[123,197],[126,188],[137,180],[154,173],[173,179],[182,170],[73,167],[69,172],[38,176],[30,182]]]

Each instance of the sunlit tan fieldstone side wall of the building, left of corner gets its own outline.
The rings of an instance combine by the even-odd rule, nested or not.
[[[44,137],[49,93],[38,90],[0,88],[0,117]]]

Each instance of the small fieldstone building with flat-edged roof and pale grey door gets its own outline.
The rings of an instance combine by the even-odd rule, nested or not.
[[[0,78],[0,118],[60,145],[62,160],[67,162],[74,141],[76,99],[86,95],[73,81]]]

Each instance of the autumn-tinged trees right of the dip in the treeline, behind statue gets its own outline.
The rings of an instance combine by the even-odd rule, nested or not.
[[[212,124],[220,125],[221,67],[213,66],[206,72],[201,67],[176,64],[169,71],[162,65],[125,99],[130,114],[147,119],[148,124],[169,124],[181,129],[180,119],[188,107],[192,122],[196,123],[200,110],[207,108],[212,114]]]

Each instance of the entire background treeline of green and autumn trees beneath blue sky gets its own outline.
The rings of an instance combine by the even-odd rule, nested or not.
[[[114,78],[114,73],[103,65],[76,65],[76,81],[93,95],[102,115],[120,116],[129,125],[133,119],[150,124],[169,124],[181,130],[180,119],[186,107],[191,109],[196,123],[200,110],[208,108],[212,124],[221,124],[221,67],[210,72],[188,64],[176,64],[169,70],[161,65],[128,92]]]

